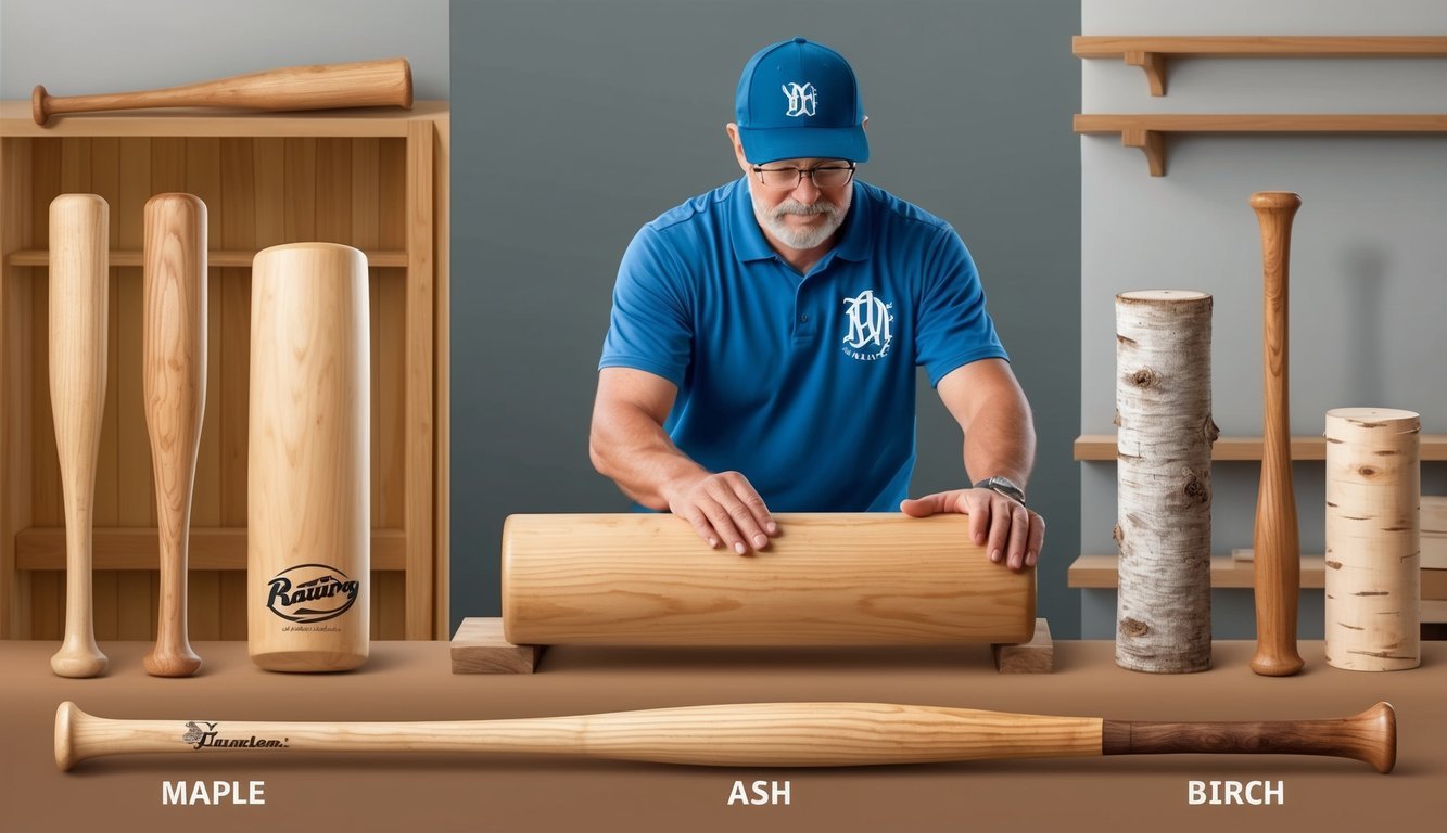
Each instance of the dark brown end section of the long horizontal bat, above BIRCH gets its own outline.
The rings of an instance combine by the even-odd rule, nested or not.
[[[1360,714],[1328,720],[1255,723],[1155,723],[1106,720],[1104,755],[1269,753],[1327,755],[1365,761],[1383,775],[1396,765],[1396,712],[1378,703]]]

